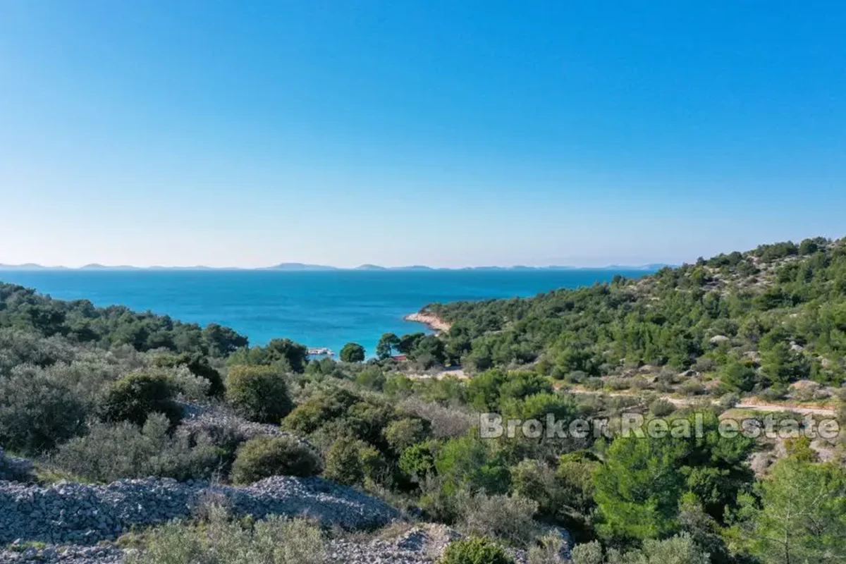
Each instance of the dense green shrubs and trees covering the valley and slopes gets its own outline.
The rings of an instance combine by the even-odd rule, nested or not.
[[[501,546],[560,561],[556,527],[580,543],[576,564],[846,559],[842,444],[717,432],[741,394],[839,405],[843,241],[429,309],[451,330],[386,334],[366,362],[354,343],[343,362],[310,361],[288,339],[249,347],[221,326],[0,285],[0,444],[34,459],[40,481],[320,474],[464,531],[448,562],[510,561]],[[473,377],[420,377],[451,362]],[[484,440],[477,429],[483,412],[569,421],[624,411],[699,418],[705,433]],[[777,462],[753,469],[762,454]],[[173,524],[150,535],[139,561],[180,547],[168,561],[241,554],[297,527],[219,515]]]

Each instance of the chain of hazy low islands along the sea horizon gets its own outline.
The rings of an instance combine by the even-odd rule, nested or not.
[[[283,262],[273,266],[258,266],[255,268],[244,268],[239,266],[131,266],[118,265],[107,266],[92,263],[85,266],[43,266],[36,263],[25,263],[23,265],[0,264],[0,271],[288,271],[288,272],[316,272],[316,271],[657,271],[667,265],[654,263],[648,265],[608,265],[608,266],[463,266],[459,268],[446,268],[434,266],[379,266],[365,264],[353,268],[341,266],[311,265],[302,262]]]

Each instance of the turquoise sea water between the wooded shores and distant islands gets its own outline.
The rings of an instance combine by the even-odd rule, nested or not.
[[[644,271],[0,271],[0,281],[60,299],[122,304],[174,319],[231,326],[263,344],[290,337],[336,353],[382,333],[424,331],[403,320],[431,302],[526,297]]]

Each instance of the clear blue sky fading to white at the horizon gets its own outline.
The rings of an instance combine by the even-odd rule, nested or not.
[[[0,263],[846,235],[846,3],[0,0]]]

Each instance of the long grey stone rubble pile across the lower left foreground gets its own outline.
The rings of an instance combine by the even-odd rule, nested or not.
[[[93,545],[133,527],[187,517],[209,496],[235,515],[307,515],[348,529],[379,527],[397,516],[374,497],[320,478],[276,476],[243,488],[152,478],[46,488],[0,481],[0,545],[16,539]]]

